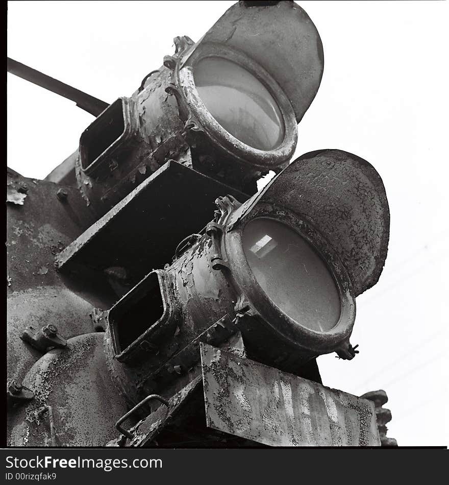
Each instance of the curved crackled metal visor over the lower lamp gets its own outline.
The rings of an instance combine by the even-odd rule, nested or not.
[[[382,179],[366,160],[341,150],[302,155],[237,209],[228,227],[243,223],[260,204],[305,217],[325,234],[346,268],[354,296],[379,280],[390,213]]]

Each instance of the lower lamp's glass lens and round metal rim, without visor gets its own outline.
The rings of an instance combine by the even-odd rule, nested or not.
[[[306,216],[277,204],[240,212],[230,214],[221,246],[249,354],[290,372],[340,349],[352,358],[354,291],[326,237]]]

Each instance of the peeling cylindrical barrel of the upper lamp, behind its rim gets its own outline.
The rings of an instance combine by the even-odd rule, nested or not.
[[[190,147],[183,136],[185,127],[179,118],[177,101],[165,91],[170,83],[171,70],[161,66],[146,80],[142,91],[136,91],[131,98],[121,99],[129,105],[127,121],[121,120],[125,124],[122,134],[111,140],[99,132],[92,140],[93,143],[102,144],[100,153],[110,152],[103,157],[104,170],[100,174],[88,173],[84,169],[86,160],[83,157],[87,147],[83,146],[82,135],[75,162],[77,184],[86,203],[99,216],[114,207],[168,160],[191,166]],[[104,116],[107,116],[107,112],[87,127],[85,133],[102,123]],[[106,119],[103,131],[110,128],[109,123],[110,120]],[[117,120],[112,123],[117,124]],[[115,148],[111,151],[113,145]]]

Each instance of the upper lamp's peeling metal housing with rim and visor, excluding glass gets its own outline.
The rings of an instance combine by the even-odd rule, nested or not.
[[[293,155],[297,124],[323,72],[319,34],[301,7],[239,2],[197,43],[187,36],[174,43],[176,52],[130,98],[99,114],[69,157],[83,198],[99,215],[170,160],[252,195],[262,175],[279,173]],[[266,89],[280,112],[279,144],[254,148],[217,122],[195,86],[195,68],[207,58],[240,66]]]

